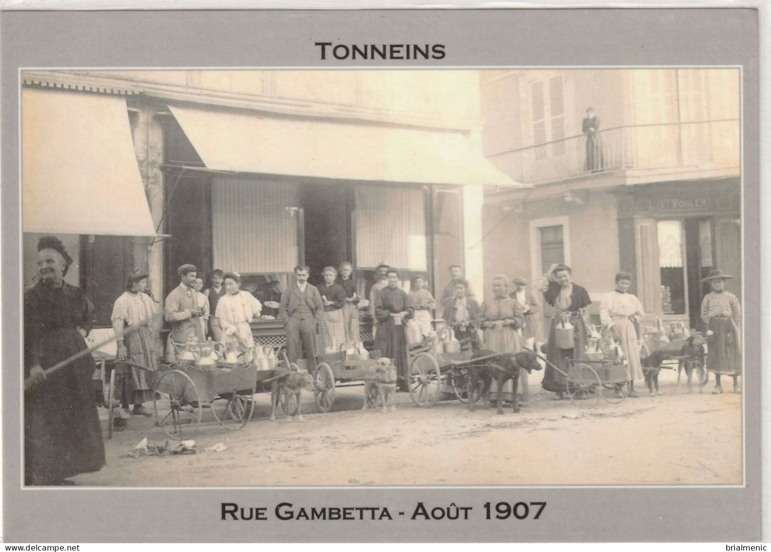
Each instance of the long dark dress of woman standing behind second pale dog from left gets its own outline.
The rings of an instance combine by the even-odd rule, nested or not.
[[[390,315],[407,311],[405,318],[412,318],[415,310],[412,308],[409,295],[399,288],[386,286],[378,291],[375,299],[375,318],[378,320],[378,332],[375,335],[375,349],[380,354],[391,358],[396,363],[399,380],[407,379],[407,336],[404,333],[405,323],[396,325]]]

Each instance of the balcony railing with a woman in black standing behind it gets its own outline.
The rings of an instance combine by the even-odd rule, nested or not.
[[[595,133],[495,153],[499,170],[521,183],[546,183],[614,170],[739,167],[739,119],[614,126]]]

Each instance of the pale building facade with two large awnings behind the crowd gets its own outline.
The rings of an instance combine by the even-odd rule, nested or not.
[[[88,223],[59,232],[45,220],[25,224],[25,283],[35,274],[34,232],[65,234],[76,257],[67,279],[96,303],[99,325],[109,325],[132,268],[150,273],[158,301],[177,285],[184,263],[206,274],[237,271],[242,288],[261,298],[284,288],[296,264],[308,264],[315,283],[323,267],[341,261],[354,264],[362,296],[382,262],[403,281],[427,274],[439,293],[448,265],[461,264],[472,286],[483,287],[483,250],[473,247],[482,238],[483,189],[516,184],[483,157],[478,72],[45,71],[22,78],[25,220],[43,210],[45,190],[59,180],[78,195],[64,197],[60,210],[76,204],[76,218]],[[72,108],[57,115],[62,102]],[[73,128],[52,132],[57,116],[63,129]],[[32,130],[39,132],[26,140]],[[85,136],[52,140],[66,133]],[[96,143],[90,133],[104,136]],[[119,174],[95,163],[125,157],[126,143],[135,167]],[[51,149],[61,166],[38,170],[41,152]],[[82,191],[92,182],[93,190]],[[138,188],[144,206],[136,205]],[[141,230],[124,230],[126,212],[146,219]],[[120,224],[110,227],[113,217]],[[105,229],[89,230],[97,222]],[[277,321],[254,331],[281,342]]]

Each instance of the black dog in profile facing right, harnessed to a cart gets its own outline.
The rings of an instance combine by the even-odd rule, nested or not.
[[[520,369],[527,370],[527,373],[533,372],[533,370],[540,370],[540,364],[536,355],[530,351],[517,352],[513,355],[510,353],[497,353],[490,351],[490,349],[483,349],[477,351],[471,355],[472,360],[474,358],[482,358],[484,356],[497,355],[496,358],[491,358],[487,361],[486,365],[470,365],[468,367],[469,372],[469,410],[474,411],[473,397],[476,396],[476,386],[479,380],[482,380],[482,399],[484,405],[490,408],[490,402],[487,400],[487,393],[490,392],[490,386],[493,384],[493,379],[498,385],[498,414],[503,414],[503,402],[500,400],[501,389],[503,384],[511,380],[512,382],[512,399],[511,409],[513,412],[520,412],[520,406],[517,402],[517,388],[520,384]]]

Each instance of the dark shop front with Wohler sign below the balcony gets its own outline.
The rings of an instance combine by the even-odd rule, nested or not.
[[[726,289],[742,297],[738,178],[655,183],[618,193],[621,268],[636,274],[646,323],[683,321],[701,330],[702,282],[722,269]]]

